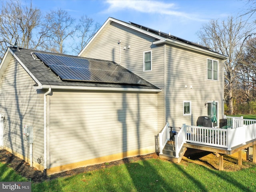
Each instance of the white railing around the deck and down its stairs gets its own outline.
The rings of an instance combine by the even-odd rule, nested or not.
[[[176,158],[179,157],[179,152],[185,142],[232,150],[232,147],[246,144],[246,142],[256,139],[256,120],[243,119],[243,117],[227,116],[226,118],[229,126],[227,129],[183,124],[178,134],[174,136]],[[164,146],[168,140],[170,140],[170,128],[169,123],[166,123],[159,133],[160,154],[163,154]]]

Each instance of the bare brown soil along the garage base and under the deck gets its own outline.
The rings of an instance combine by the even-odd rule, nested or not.
[[[136,162],[138,160],[146,160],[149,158],[159,158],[159,156],[156,153],[135,156],[114,162],[76,168],[70,171],[53,174],[51,176],[44,176],[42,172],[40,172],[36,168],[30,167],[30,165],[26,163],[24,160],[14,156],[13,154],[6,150],[0,150],[0,162],[7,164],[8,167],[13,168],[18,174],[26,177],[28,180],[31,180],[33,182],[42,182],[43,180],[51,180],[58,177],[71,176],[78,173],[98,170],[101,168],[107,168],[110,166],[115,166],[123,163]],[[194,154],[188,154],[182,158],[182,161],[180,163],[196,163],[215,170],[218,170],[219,168],[219,158],[217,158],[215,154],[209,152],[197,152]],[[243,168],[249,168],[253,165],[254,163],[252,163],[251,161],[245,160],[242,161],[242,165],[238,165],[237,158],[224,155],[224,170],[226,171],[237,171]]]

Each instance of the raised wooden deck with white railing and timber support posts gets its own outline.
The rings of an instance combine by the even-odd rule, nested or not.
[[[231,119],[231,118],[230,118]],[[232,118],[231,126],[227,129],[187,126],[183,124],[174,136],[175,157],[180,158],[182,148],[192,148],[216,153],[219,157],[219,169],[223,170],[223,155],[232,155],[238,152],[238,164],[242,164],[242,151],[253,147],[253,162],[256,162],[256,120]],[[170,127],[166,126],[159,133],[160,155],[170,141]]]

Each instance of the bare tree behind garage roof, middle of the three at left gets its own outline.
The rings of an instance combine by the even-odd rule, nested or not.
[[[50,11],[45,16],[45,30],[48,34],[48,44],[45,49],[65,53],[64,41],[70,40],[76,32],[75,19],[62,9]]]

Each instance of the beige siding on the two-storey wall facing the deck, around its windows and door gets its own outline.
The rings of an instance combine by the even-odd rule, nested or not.
[[[223,61],[219,60],[219,78],[215,81],[207,80],[207,58],[216,58],[171,46],[166,48],[166,57],[166,115],[170,125],[196,126],[198,116],[207,116],[204,103],[213,100],[218,101],[218,119],[222,118]],[[191,101],[192,115],[183,116],[183,101]]]

